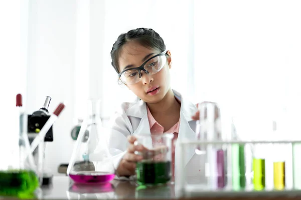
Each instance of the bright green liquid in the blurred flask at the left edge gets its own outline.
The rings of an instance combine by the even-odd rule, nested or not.
[[[0,196],[18,196],[33,198],[34,191],[39,187],[39,179],[31,170],[0,171]]]

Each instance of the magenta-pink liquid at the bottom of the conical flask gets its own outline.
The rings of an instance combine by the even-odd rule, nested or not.
[[[102,171],[79,171],[77,174],[69,174],[76,183],[104,183],[111,181],[115,174]]]

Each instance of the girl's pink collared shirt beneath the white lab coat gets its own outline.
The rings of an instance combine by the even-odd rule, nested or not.
[[[147,107],[147,106],[146,106]],[[165,132],[168,133],[174,133],[174,138],[172,141],[172,170],[173,170],[173,177],[174,177],[174,171],[175,171],[175,140],[178,138],[178,133],[179,133],[179,126],[180,126],[180,119],[179,121],[173,125],[173,127],[171,127],[169,130],[164,132],[164,127],[162,125],[160,125],[156,119],[154,118],[154,116],[152,115],[152,113],[150,113],[149,108],[147,107],[147,117],[148,117],[148,122],[149,122],[149,127],[150,127],[150,133],[151,134],[163,134]]]

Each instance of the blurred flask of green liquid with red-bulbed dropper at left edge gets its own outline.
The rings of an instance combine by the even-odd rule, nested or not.
[[[32,198],[39,187],[38,167],[32,153],[29,153],[27,115],[22,110],[22,95],[18,94],[16,99],[19,109],[19,134],[11,134],[12,140],[6,134],[2,138],[7,141],[6,145],[12,151],[4,152],[4,160],[0,167],[0,196]]]

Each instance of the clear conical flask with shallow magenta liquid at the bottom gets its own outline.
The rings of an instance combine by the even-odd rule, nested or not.
[[[100,100],[88,100],[88,112],[67,168],[67,174],[77,183],[103,183],[114,178],[112,156],[107,145],[108,131],[102,127]]]

